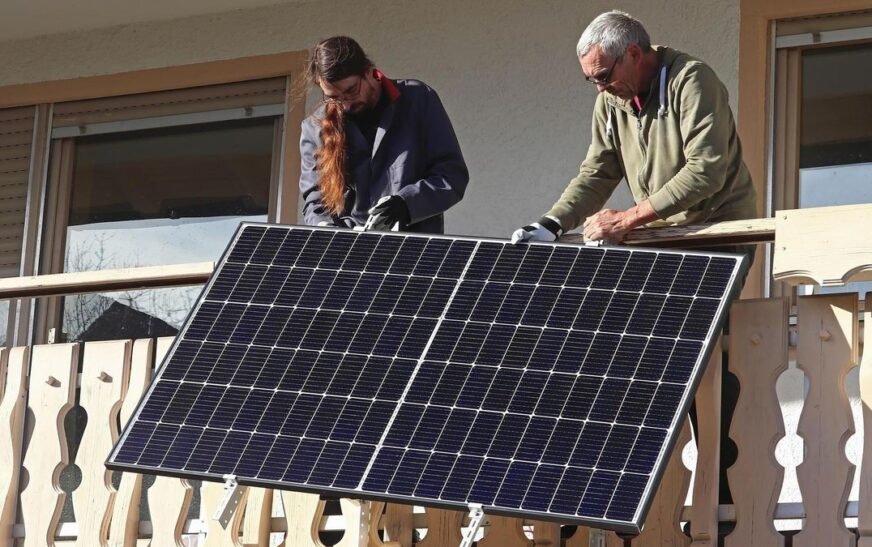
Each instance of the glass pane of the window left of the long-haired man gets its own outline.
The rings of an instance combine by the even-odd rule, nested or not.
[[[64,271],[215,261],[267,219],[273,118],[76,140]],[[174,335],[201,287],[64,298],[65,340]]]

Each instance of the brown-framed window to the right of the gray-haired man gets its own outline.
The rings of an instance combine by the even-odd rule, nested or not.
[[[872,27],[851,27],[857,15],[791,21],[776,47],[772,209],[872,202]],[[865,19],[858,22],[869,23]],[[826,27],[816,28],[818,21]],[[836,25],[838,23],[838,25]],[[836,25],[836,26],[834,26]],[[832,28],[830,28],[832,27]],[[782,24],[779,23],[779,29]],[[872,283],[799,294],[858,291]],[[775,295],[791,294],[781,284]]]

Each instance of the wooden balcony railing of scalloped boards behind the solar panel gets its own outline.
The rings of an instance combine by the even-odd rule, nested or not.
[[[204,279],[208,269],[200,265],[185,273],[180,268],[174,274],[180,277],[171,277],[190,283]],[[128,274],[124,288],[152,284],[142,272]],[[109,276],[116,283],[113,288],[118,287],[119,275]],[[807,271],[803,275],[814,277]],[[73,283],[63,289],[58,287],[69,278],[22,279],[18,288],[7,280],[7,285],[0,284],[0,298],[23,296],[15,292],[25,290],[23,286],[31,291],[29,296],[104,290],[107,281],[99,274],[95,277],[90,280],[93,285]],[[34,292],[35,284],[51,292]],[[862,321],[862,338],[868,340],[872,297],[862,311],[860,304],[856,293],[846,293],[799,297],[793,309],[782,298],[733,305],[729,335],[722,339],[729,369],[741,383],[729,431],[739,454],[729,469],[733,503],[718,503],[722,379],[717,366],[721,352],[715,352],[697,394],[700,439],[692,442],[685,425],[645,528],[630,545],[714,546],[725,524],[732,527],[725,539],[728,547],[783,545],[785,535],[779,529],[785,528],[792,530],[790,541],[796,546],[848,546],[857,541],[872,545],[872,432],[865,434],[872,429],[872,351],[862,351],[859,330]],[[151,478],[133,473],[113,481],[103,462],[118,436],[118,424],[129,419],[171,342],[117,340],[2,351],[0,545],[320,546],[338,541],[343,547],[442,547],[460,542],[463,512],[343,499],[338,504],[341,513],[327,514],[328,504],[316,495],[249,488],[229,524],[222,527],[211,518],[223,495],[221,484],[170,477],[151,483]],[[857,366],[861,419],[852,414],[845,387],[846,377]],[[787,431],[785,417],[788,423],[791,415],[796,417],[800,401],[784,404],[776,388],[788,375],[795,380],[800,374],[799,385],[807,385],[807,395],[794,420],[796,430]],[[73,409],[87,416],[74,458],[64,427]],[[856,467],[845,453],[855,429],[862,439]],[[776,458],[786,435],[801,437],[800,465],[782,464]],[[694,452],[695,446],[695,462],[686,465],[682,454]],[[61,522],[67,494],[60,477],[71,465],[82,477],[71,492],[76,518]],[[795,499],[779,503],[785,477],[794,475]],[[858,493],[849,499],[854,482]],[[195,499],[199,506],[192,509]],[[483,532],[480,547],[624,545],[611,532],[561,530],[555,523],[503,517],[490,517]]]

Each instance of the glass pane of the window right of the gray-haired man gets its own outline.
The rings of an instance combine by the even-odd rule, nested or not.
[[[799,206],[872,203],[872,44],[810,49],[802,54]],[[872,283],[800,294],[857,291]]]

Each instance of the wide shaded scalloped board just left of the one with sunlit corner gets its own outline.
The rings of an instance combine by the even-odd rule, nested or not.
[[[730,371],[741,391],[730,427],[739,454],[727,470],[736,528],[726,537],[726,547],[784,544],[773,524],[784,478],[775,459],[775,447],[784,437],[775,385],[788,368],[788,319],[786,298],[740,300],[730,311]]]

